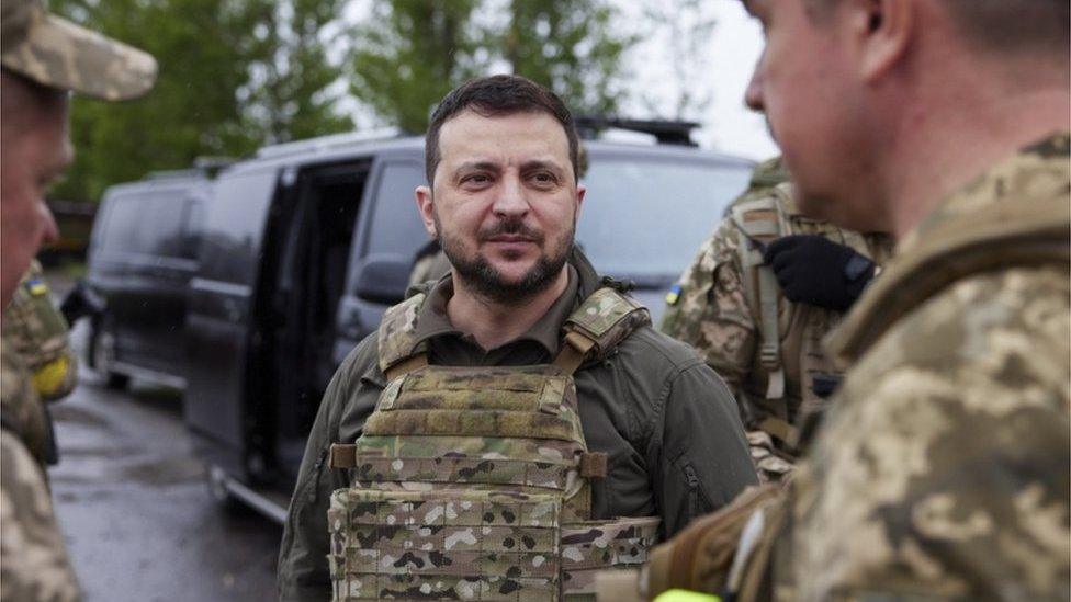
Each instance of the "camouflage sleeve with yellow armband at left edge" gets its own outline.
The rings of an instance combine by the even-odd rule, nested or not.
[[[68,340],[67,320],[52,302],[35,260],[3,310],[3,338],[33,374],[34,390],[45,401],[61,399],[78,382],[78,357]]]

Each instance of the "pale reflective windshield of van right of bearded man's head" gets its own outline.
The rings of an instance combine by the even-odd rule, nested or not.
[[[576,240],[599,273],[663,286],[688,266],[749,175],[743,166],[593,157]]]

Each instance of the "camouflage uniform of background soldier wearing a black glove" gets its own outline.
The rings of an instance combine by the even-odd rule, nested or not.
[[[801,412],[823,406],[815,377],[837,374],[822,339],[841,314],[785,299],[762,265],[758,245],[821,235],[878,264],[891,246],[884,236],[860,236],[800,215],[786,182],[779,159],[755,169],[748,190],[726,209],[667,297],[661,325],[699,350],[733,389],[759,474],[770,480],[791,468]]]

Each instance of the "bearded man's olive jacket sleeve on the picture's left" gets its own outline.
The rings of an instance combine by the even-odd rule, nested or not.
[[[348,484],[340,470],[327,466],[327,454],[331,444],[339,442],[345,410],[361,374],[370,362],[375,362],[374,350],[375,334],[372,334],[350,352],[327,386],[308,433],[279,550],[280,600],[322,601],[330,597],[327,509],[331,492]]]

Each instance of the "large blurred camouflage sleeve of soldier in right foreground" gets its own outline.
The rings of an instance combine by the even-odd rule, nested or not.
[[[1066,269],[977,276],[867,352],[797,478],[789,598],[1067,600],[1069,305]]]

